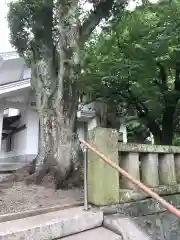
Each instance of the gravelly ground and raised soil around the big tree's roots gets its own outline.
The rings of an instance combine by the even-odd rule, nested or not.
[[[23,168],[0,183],[0,214],[83,201],[83,189],[55,190],[51,176],[46,176],[40,186],[27,185],[27,176]]]

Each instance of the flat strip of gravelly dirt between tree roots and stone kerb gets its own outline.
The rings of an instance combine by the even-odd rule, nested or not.
[[[10,188],[0,186],[0,214],[14,213],[83,200],[81,189],[58,190],[43,186],[14,183]]]

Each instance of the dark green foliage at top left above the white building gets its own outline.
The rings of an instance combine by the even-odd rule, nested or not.
[[[54,10],[52,0],[19,0],[9,4],[11,44],[28,62],[40,59],[43,48],[56,38]]]

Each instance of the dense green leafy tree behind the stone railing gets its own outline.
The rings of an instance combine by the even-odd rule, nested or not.
[[[180,98],[180,3],[146,4],[109,22],[85,52],[93,98],[133,107],[156,143],[171,144]]]

